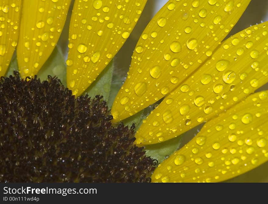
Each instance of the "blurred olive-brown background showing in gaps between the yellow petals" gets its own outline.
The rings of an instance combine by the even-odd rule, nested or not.
[[[133,50],[136,46],[136,43],[140,35],[142,34],[146,25],[153,18],[155,13],[157,13],[157,11],[166,2],[168,2],[168,0],[147,0],[146,6],[143,10],[143,13],[140,16],[138,23],[136,24],[136,27],[132,31],[131,35],[129,36],[125,44],[115,55],[114,57],[115,76],[117,76],[117,79],[114,80],[113,83],[118,83],[119,88],[120,85],[122,85],[122,81],[124,81],[124,77],[126,76],[127,71],[129,70],[129,66],[131,63],[131,55],[133,53]],[[72,8],[72,5],[70,8]],[[67,50],[68,33],[69,33],[68,22],[70,22],[70,14],[71,12],[69,12],[65,27],[62,31],[62,35],[58,43],[59,45],[62,45],[62,51],[65,54],[66,58],[68,51]],[[268,20],[268,0],[251,0],[251,3],[249,4],[248,8],[245,10],[244,14],[240,18],[240,20],[238,20],[238,23],[234,26],[234,28],[231,30],[230,34],[227,37],[249,27],[250,25],[261,23],[261,21],[267,21],[267,20]],[[264,85],[260,89],[262,90],[268,89],[268,84]],[[180,147],[182,147],[185,143],[191,140],[195,136],[195,134],[197,134],[198,132],[197,130],[200,129],[201,127],[202,125],[185,133]],[[257,167],[254,170],[251,170],[248,173],[242,174],[241,176],[228,180],[227,182],[268,182],[268,162],[264,163],[263,165]]]

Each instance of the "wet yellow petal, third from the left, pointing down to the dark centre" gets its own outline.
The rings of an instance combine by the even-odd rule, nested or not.
[[[81,95],[122,47],[143,1],[75,1],[69,28],[68,88]],[[78,26],[79,25],[79,26]]]

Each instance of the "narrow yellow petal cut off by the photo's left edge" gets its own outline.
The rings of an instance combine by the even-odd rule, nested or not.
[[[0,77],[5,75],[19,34],[21,0],[4,0],[0,6]]]

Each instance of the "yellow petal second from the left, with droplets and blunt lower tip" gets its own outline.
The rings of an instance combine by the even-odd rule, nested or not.
[[[58,42],[71,0],[23,1],[17,60],[20,75],[34,76]]]

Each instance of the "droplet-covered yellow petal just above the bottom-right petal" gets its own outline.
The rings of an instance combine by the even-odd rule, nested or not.
[[[267,83],[267,23],[249,27],[224,41],[212,57],[173,90],[137,131],[153,144],[217,116]]]

